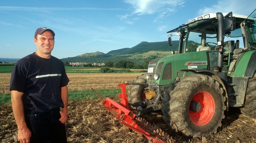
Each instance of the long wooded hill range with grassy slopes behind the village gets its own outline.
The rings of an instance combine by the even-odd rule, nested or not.
[[[152,60],[158,57],[170,55],[168,51],[177,51],[179,41],[173,41],[170,47],[167,41],[163,42],[141,42],[131,48],[122,48],[110,51],[106,54],[102,52],[85,53],[77,57],[62,58],[63,62],[90,62],[104,63],[108,60],[117,62],[120,59],[132,60],[141,63],[145,60]],[[149,52],[153,51],[153,52]]]

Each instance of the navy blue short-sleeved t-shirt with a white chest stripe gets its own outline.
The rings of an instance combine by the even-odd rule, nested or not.
[[[32,53],[16,62],[11,75],[10,90],[23,92],[24,109],[48,112],[64,107],[61,87],[69,79],[61,60],[41,58]]]

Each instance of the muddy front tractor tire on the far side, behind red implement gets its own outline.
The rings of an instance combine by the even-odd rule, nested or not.
[[[133,80],[133,83],[146,83],[146,75],[140,75],[135,80]],[[129,85],[129,90],[127,91],[128,95],[128,102],[138,102],[143,101],[144,98],[144,85]]]

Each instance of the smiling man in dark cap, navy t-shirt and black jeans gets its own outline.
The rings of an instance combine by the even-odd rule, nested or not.
[[[36,52],[21,58],[12,70],[11,102],[21,143],[67,142],[69,79],[63,62],[51,56],[54,36],[51,29],[38,28]]]

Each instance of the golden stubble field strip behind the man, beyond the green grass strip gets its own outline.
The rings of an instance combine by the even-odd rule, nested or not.
[[[117,84],[127,80],[133,80],[141,73],[71,73],[69,77],[69,90],[84,89],[113,89],[119,88]],[[0,73],[0,93],[10,93],[9,85],[11,80],[10,73]]]

